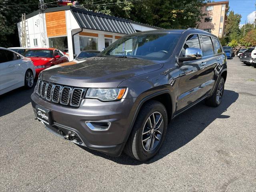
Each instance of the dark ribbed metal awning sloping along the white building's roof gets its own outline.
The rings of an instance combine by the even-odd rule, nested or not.
[[[70,8],[80,28],[100,30],[121,34],[135,33],[131,22],[122,18],[116,18],[87,10]]]

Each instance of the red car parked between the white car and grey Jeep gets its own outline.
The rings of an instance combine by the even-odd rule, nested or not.
[[[34,48],[26,51],[25,57],[30,58],[36,66],[36,77],[39,73],[51,66],[68,62],[68,58],[55,48]]]

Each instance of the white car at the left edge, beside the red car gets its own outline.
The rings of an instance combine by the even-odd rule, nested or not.
[[[35,76],[36,69],[29,58],[0,47],[0,95],[22,86],[32,88]]]

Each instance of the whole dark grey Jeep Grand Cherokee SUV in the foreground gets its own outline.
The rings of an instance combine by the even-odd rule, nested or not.
[[[119,54],[126,50],[129,56]],[[203,100],[220,105],[226,76],[216,36],[196,29],[138,32],[84,62],[41,72],[32,107],[61,138],[146,161],[162,146],[170,120]]]

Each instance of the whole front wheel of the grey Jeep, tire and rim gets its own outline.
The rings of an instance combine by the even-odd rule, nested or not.
[[[167,111],[164,105],[151,100],[140,110],[124,152],[139,161],[147,161],[162,146],[167,130]]]

